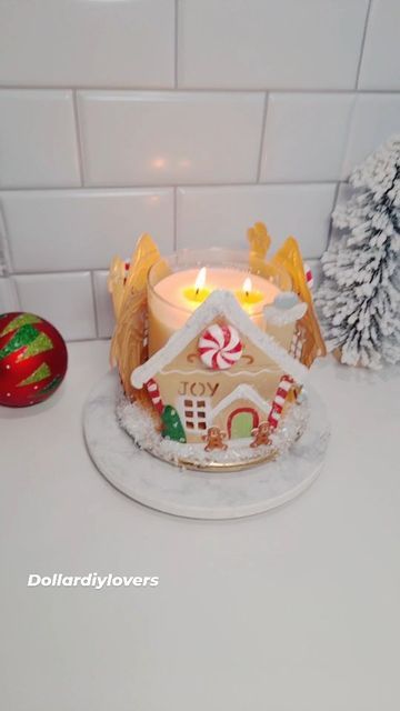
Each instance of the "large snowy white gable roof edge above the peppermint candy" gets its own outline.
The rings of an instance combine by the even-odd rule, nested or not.
[[[286,373],[292,375],[299,383],[304,382],[308,369],[290,356],[271,336],[254,326],[230,291],[213,291],[186,324],[171,336],[163,348],[133,370],[131,374],[133,388],[142,388],[150,378],[177,358],[207,326],[221,316]]]

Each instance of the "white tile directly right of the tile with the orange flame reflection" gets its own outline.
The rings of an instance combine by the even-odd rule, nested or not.
[[[353,94],[271,93],[261,181],[338,180]]]

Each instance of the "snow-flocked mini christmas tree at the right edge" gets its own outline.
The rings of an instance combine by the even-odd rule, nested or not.
[[[350,177],[354,193],[333,212],[339,237],[322,257],[317,304],[328,350],[350,365],[400,360],[400,136]]]

